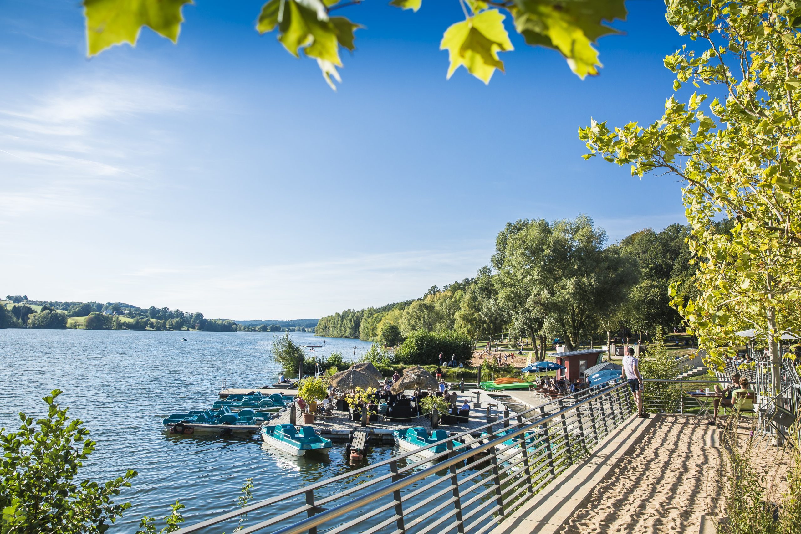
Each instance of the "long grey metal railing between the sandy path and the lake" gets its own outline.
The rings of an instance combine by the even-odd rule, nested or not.
[[[572,443],[574,439],[578,437],[578,439],[582,440],[582,449],[581,451],[589,451],[592,445],[598,443],[600,439],[602,439],[603,435],[608,435],[610,432],[610,428],[617,427],[622,421],[626,420],[629,415],[633,412],[632,403],[630,402],[630,398],[626,396],[625,399],[621,398],[621,391],[622,388],[626,386],[626,382],[618,382],[614,383],[611,386],[604,386],[599,388],[598,390],[582,390],[575,392],[574,394],[566,395],[566,398],[576,398],[576,397],[583,397],[581,399],[576,399],[574,403],[571,403],[569,406],[564,406],[565,398],[561,399],[554,399],[547,403],[543,403],[537,407],[529,408],[526,411],[522,411],[518,414],[510,415],[509,417],[501,419],[497,419],[493,423],[488,423],[478,428],[470,429],[468,431],[461,432],[460,434],[453,435],[449,438],[449,450],[441,452],[437,455],[434,455],[432,458],[425,459],[421,462],[410,463],[409,465],[398,469],[397,461],[399,459],[405,459],[411,455],[417,454],[417,452],[421,450],[429,449],[430,447],[436,446],[436,443],[429,444],[426,447],[421,447],[417,451],[410,451],[402,455],[395,456],[391,459],[386,459],[380,463],[376,463],[372,466],[363,467],[356,471],[351,471],[349,473],[344,473],[343,475],[338,475],[333,477],[332,479],[326,479],[320,481],[318,483],[311,484],[307,487],[301,487],[296,489],[292,492],[287,492],[284,495],[276,496],[268,500],[260,501],[256,504],[251,504],[244,508],[239,508],[232,512],[227,512],[221,516],[216,516],[210,520],[202,521],[198,524],[194,524],[188,526],[187,528],[181,528],[180,532],[197,532],[203,528],[210,527],[215,524],[222,523],[227,520],[235,519],[245,513],[254,512],[260,508],[268,507],[272,504],[278,504],[280,502],[288,502],[290,500],[295,499],[296,497],[305,496],[305,504],[294,503],[292,504],[292,510],[282,513],[279,516],[273,516],[268,520],[264,520],[258,524],[254,524],[248,528],[244,528],[243,530],[239,531],[242,534],[247,534],[248,532],[256,532],[263,528],[268,528],[271,525],[275,525],[281,521],[291,519],[292,517],[296,516],[306,516],[302,520],[297,521],[294,524],[288,525],[285,528],[281,528],[279,530],[275,530],[276,534],[291,534],[296,532],[316,532],[316,527],[321,524],[324,524],[330,520],[336,520],[342,516],[348,514],[348,512],[352,512],[360,507],[364,507],[367,504],[373,503],[376,500],[379,500],[385,496],[393,495],[395,499],[390,503],[391,505],[381,505],[380,510],[372,510],[368,512],[368,517],[376,516],[381,512],[384,512],[384,516],[380,516],[384,518],[381,522],[383,525],[392,524],[392,522],[398,520],[399,521],[399,532],[405,532],[405,528],[402,528],[402,521],[404,520],[404,516],[412,511],[417,511],[417,509],[421,508],[421,505],[416,504],[410,507],[406,512],[401,512],[400,516],[397,516],[397,506],[401,504],[400,500],[400,490],[403,490],[406,487],[411,486],[418,481],[429,477],[435,473],[442,472],[445,469],[450,469],[451,476],[444,477],[444,479],[437,479],[437,483],[444,483],[447,484],[450,480],[452,489],[453,489],[453,496],[450,497],[448,500],[443,500],[441,503],[437,501],[438,505],[437,508],[444,508],[446,506],[451,506],[451,511],[447,514],[443,514],[442,516],[438,516],[437,523],[440,523],[443,520],[446,520],[450,516],[455,514],[457,518],[457,525],[459,528],[459,532],[465,532],[465,520],[472,516],[475,512],[478,512],[479,509],[470,510],[465,516],[463,517],[461,514],[461,505],[456,506],[454,503],[457,503],[460,496],[460,483],[465,483],[469,480],[475,479],[477,476],[484,475],[486,473],[491,473],[492,475],[489,478],[481,479],[478,484],[471,485],[470,489],[467,493],[472,491],[473,487],[479,487],[480,484],[494,482],[493,487],[489,487],[487,491],[481,492],[479,496],[473,497],[468,502],[477,502],[484,498],[485,496],[490,496],[492,494],[491,490],[495,491],[497,494],[496,504],[489,508],[488,512],[481,514],[476,520],[473,521],[471,525],[478,525],[481,524],[482,521],[486,520],[489,516],[491,516],[494,512],[499,512],[499,515],[504,515],[504,509],[506,506],[511,504],[513,501],[517,503],[516,505],[520,504],[520,500],[529,498],[528,496],[523,495],[526,489],[530,489],[532,496],[535,492],[535,488],[533,487],[533,483],[542,479],[542,482],[537,484],[537,488],[543,487],[546,483],[553,480],[557,472],[561,472],[566,466],[573,463],[574,460],[578,457],[572,447],[574,444]],[[594,391],[597,391],[595,393]],[[595,403],[598,401],[598,403]],[[617,401],[617,410],[615,409],[615,402]],[[594,407],[594,403],[599,406]],[[551,405],[557,404],[558,409],[549,413],[549,411],[553,408]],[[625,405],[625,406],[624,406]],[[598,415],[603,416],[603,423],[596,424],[593,421],[592,428],[582,429],[582,408],[589,406],[590,409],[590,417],[592,417],[593,409],[598,412]],[[547,410],[546,410],[547,408]],[[586,415],[585,415],[586,417]],[[553,423],[561,423],[561,424],[553,424]],[[549,426],[549,423],[552,423]],[[494,431],[493,427],[501,427],[504,430],[508,431],[507,434],[502,436],[493,437],[496,432]],[[586,425],[589,427],[589,425]],[[510,427],[510,428],[509,428]],[[472,439],[469,435],[487,431],[488,438],[477,438]],[[526,439],[529,437],[526,434],[537,434],[538,438],[536,443],[527,443]],[[542,435],[540,435],[542,434]],[[514,439],[520,436],[521,447],[518,447],[517,451],[513,451],[512,454],[508,454],[510,449],[513,449],[514,446],[509,446],[503,448],[503,443],[506,440]],[[456,452],[453,451],[453,447],[450,444],[453,443],[453,439],[465,439],[466,445],[472,445],[469,450],[463,452]],[[485,443],[481,443],[485,441]],[[556,443],[554,445],[554,443]],[[539,448],[541,447],[542,450],[545,452],[539,455],[536,459],[529,458],[529,454],[531,451],[528,451],[530,447]],[[556,450],[555,450],[556,449]],[[489,451],[489,460],[487,458],[475,459],[476,455]],[[505,455],[506,453],[506,455]],[[521,488],[518,488],[516,491],[513,492],[511,496],[503,496],[503,492],[501,491],[501,473],[511,473],[510,475],[505,477],[505,483],[509,483],[516,475],[513,471],[514,467],[519,466],[521,462],[517,462],[514,466],[505,465],[513,459],[513,457],[521,455],[523,463],[525,463],[525,473],[529,475],[528,479],[521,478],[517,480],[517,482],[511,483],[511,488],[517,487],[520,485],[521,482],[528,482],[527,485],[524,485]],[[409,474],[403,475],[402,477],[399,476],[399,473],[404,473],[405,471],[410,471],[413,469],[417,469],[421,467],[421,465],[428,464],[432,461],[436,461],[437,459],[441,459],[440,462],[429,465],[429,467],[422,468],[419,471],[411,472]],[[471,462],[470,460],[473,459]],[[558,460],[558,461],[557,461]],[[468,470],[470,467],[477,466],[479,463],[485,463],[489,461],[491,463],[490,467],[484,470],[479,471],[478,473],[473,473],[465,479],[461,479],[459,481],[457,479],[457,475],[461,472]],[[459,463],[465,462],[465,467],[457,470],[456,466]],[[501,464],[505,465],[504,469],[499,470],[498,467],[501,467]],[[537,477],[534,478],[533,475],[529,472],[529,468],[532,467],[533,470],[538,473]],[[336,495],[333,496],[326,496],[324,499],[320,500],[320,504],[315,504],[314,499],[314,491],[316,489],[320,489],[321,487],[331,486],[333,483],[340,482],[343,479],[351,479],[354,478],[361,473],[365,473],[367,471],[378,472],[376,469],[388,466],[392,469],[391,476],[384,476],[381,475],[376,479],[369,481],[368,483],[360,484],[358,490],[360,492],[364,492],[365,488],[371,488],[372,491],[364,493],[361,496],[352,497],[347,502],[342,504],[333,506],[332,508],[320,508],[320,504],[323,502],[331,503],[332,501],[338,500],[340,498],[347,497],[352,493],[356,492],[354,488],[348,488],[344,492],[338,492]],[[546,469],[539,473],[539,471]],[[391,479],[391,481],[390,481]],[[437,485],[436,483],[433,485]],[[372,486],[376,486],[372,488]],[[447,489],[447,488],[446,488]],[[505,488],[507,491],[509,487]],[[417,491],[416,491],[417,492]],[[443,498],[449,495],[449,492],[441,492]],[[407,496],[409,499],[411,496]],[[492,499],[487,501],[488,504],[493,502]],[[481,509],[481,508],[480,508]],[[429,511],[430,512],[430,511]],[[424,512],[428,514],[429,512]],[[400,517],[400,519],[398,519]],[[415,522],[419,522],[421,518],[417,518],[414,520]],[[373,530],[370,532],[375,532],[376,527],[373,527]],[[383,527],[382,527],[383,528]],[[336,531],[336,528],[335,528]],[[336,531],[338,532],[338,531]]]

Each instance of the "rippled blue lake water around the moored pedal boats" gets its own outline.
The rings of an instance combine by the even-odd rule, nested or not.
[[[248,477],[254,500],[261,500],[352,471],[344,445],[335,445],[329,459],[295,459],[265,450],[258,435],[190,437],[164,431],[161,420],[167,415],[211,407],[223,382],[234,387],[275,382],[280,367],[269,350],[277,335],[284,334],[0,330],[0,426],[16,430],[19,411],[44,414],[41,398],[62,390],[59,403],[86,423],[98,443],[80,478],[105,481],[127,469],[139,471],[133,487],[117,500],[133,507],[110,532],[135,532],[141,516],[163,517],[175,500],[187,506],[187,524],[229,512]],[[338,350],[351,360],[370,347],[356,339],[290,335],[300,345],[325,341],[315,353],[322,357]],[[370,461],[391,454],[391,447],[376,447]]]

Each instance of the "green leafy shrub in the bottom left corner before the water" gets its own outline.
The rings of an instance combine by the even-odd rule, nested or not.
[[[115,504],[136,471],[107,483],[78,479],[95,442],[69,408],[56,403],[60,390],[43,398],[47,415],[20,414],[18,431],[0,429],[0,510],[3,534],[106,532],[131,504]],[[80,480],[80,481],[79,481]]]

